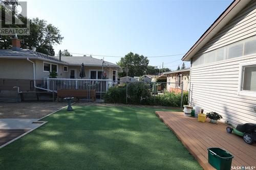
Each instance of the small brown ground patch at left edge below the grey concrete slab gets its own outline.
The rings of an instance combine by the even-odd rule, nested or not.
[[[29,129],[0,129],[0,146],[29,131]]]

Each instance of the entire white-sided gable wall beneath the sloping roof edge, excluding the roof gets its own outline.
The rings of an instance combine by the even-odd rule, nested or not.
[[[249,3],[193,57],[197,66],[192,64],[190,72],[191,105],[201,106],[204,113],[216,111],[223,116],[222,121],[232,125],[256,124],[253,110],[256,96],[239,95],[241,64],[256,62],[256,39],[253,36],[256,36],[256,1]],[[216,50],[214,59],[207,59],[205,55],[198,57],[213,50]],[[233,53],[229,54],[230,50]],[[200,65],[206,60],[215,62]],[[248,72],[251,75],[246,79],[251,79],[254,70]],[[253,83],[250,88],[254,87]]]

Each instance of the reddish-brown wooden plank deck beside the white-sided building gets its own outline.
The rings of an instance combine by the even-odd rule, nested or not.
[[[185,117],[181,112],[162,112],[156,114],[177,135],[187,150],[204,169],[215,169],[208,163],[207,148],[219,147],[229,151],[234,158],[232,166],[256,167],[256,144],[245,143],[242,137],[228,134],[227,125],[198,122],[196,118]]]

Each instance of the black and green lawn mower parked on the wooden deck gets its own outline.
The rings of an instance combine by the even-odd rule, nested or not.
[[[239,136],[243,136],[246,143],[252,144],[256,141],[256,124],[238,124],[237,128],[226,128],[227,133],[234,133]]]

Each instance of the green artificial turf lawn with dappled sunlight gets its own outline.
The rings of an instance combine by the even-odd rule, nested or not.
[[[73,106],[0,149],[0,169],[202,169],[153,108]]]

